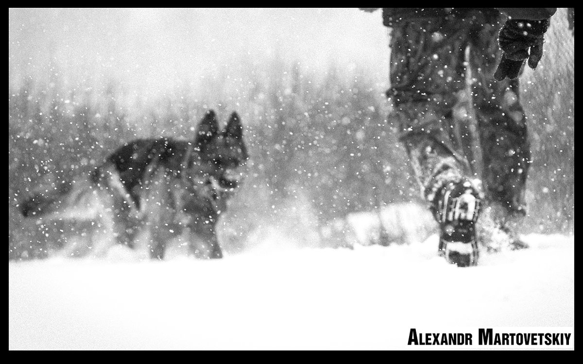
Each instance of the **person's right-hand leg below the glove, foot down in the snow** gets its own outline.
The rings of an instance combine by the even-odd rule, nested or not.
[[[496,10],[483,10],[480,16],[472,26],[469,58],[488,206],[480,221],[484,225],[480,237],[490,248],[500,248],[504,240],[519,247],[516,230],[525,215],[531,158],[526,118],[519,102],[518,79],[496,81],[493,77],[501,57],[497,34],[505,16]]]

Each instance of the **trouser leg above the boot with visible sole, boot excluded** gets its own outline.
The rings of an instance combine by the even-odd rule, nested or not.
[[[465,89],[468,29],[456,17],[399,22],[391,32],[391,88],[398,125],[422,195],[433,202],[448,182],[471,172],[456,142],[453,109]]]

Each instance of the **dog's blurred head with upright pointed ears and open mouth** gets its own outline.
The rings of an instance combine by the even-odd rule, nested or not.
[[[216,114],[210,110],[198,125],[195,147],[201,162],[212,166],[212,175],[225,189],[236,188],[249,158],[243,140],[243,125],[236,112],[231,114],[223,130],[219,129]]]

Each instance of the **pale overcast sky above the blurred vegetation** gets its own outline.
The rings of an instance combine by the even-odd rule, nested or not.
[[[388,73],[380,10],[343,9],[10,9],[9,79],[41,78],[52,65],[68,78],[115,76],[163,89],[246,57],[275,54],[324,70]]]

